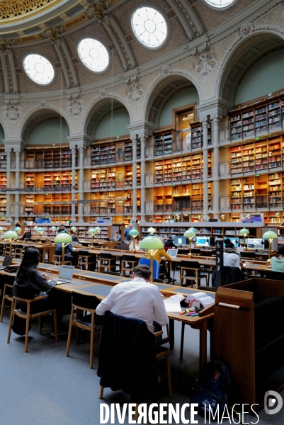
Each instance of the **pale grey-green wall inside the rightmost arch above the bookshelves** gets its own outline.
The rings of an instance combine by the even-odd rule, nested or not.
[[[283,89],[283,69],[284,50],[263,57],[242,80],[235,99],[236,105]]]

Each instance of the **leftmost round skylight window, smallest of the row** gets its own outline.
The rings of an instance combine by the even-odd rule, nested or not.
[[[40,55],[26,56],[23,67],[28,77],[38,84],[49,84],[55,77],[55,70],[50,61]]]

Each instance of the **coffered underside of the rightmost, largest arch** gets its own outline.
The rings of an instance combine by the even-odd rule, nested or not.
[[[251,67],[277,48],[284,47],[284,39],[273,31],[259,31],[241,40],[227,55],[217,83],[217,97],[234,106],[239,84]]]

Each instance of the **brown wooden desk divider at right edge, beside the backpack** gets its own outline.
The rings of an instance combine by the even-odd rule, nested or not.
[[[258,412],[266,391],[284,387],[283,282],[253,278],[222,286],[215,303],[212,358],[231,373],[230,405],[256,403]]]

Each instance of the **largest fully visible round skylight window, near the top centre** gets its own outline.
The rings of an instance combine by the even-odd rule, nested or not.
[[[159,47],[166,39],[166,21],[152,7],[137,9],[132,15],[131,25],[138,40],[147,47]]]

